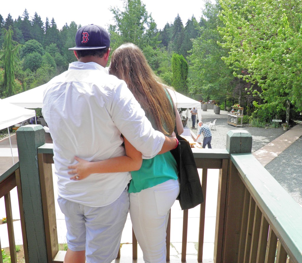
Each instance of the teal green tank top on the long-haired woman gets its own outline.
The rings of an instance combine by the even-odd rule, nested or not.
[[[151,122],[152,127],[155,128],[155,122],[147,112],[146,117]],[[157,154],[151,159],[143,159],[140,170],[132,171],[131,175],[132,180],[130,181],[128,192],[137,193],[170,179],[177,180],[177,163],[170,152]]]

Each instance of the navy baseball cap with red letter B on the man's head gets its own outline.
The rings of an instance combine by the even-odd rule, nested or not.
[[[110,47],[108,32],[98,25],[88,25],[76,32],[76,46],[70,50],[103,49]]]

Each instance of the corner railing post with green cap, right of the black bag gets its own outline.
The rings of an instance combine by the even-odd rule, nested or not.
[[[230,130],[226,135],[226,150],[229,154],[251,154],[252,136],[244,130]],[[245,241],[246,233],[246,229],[242,229],[246,187],[230,159],[227,178],[221,179],[221,182],[226,188],[221,262],[237,262],[243,242],[241,239]]]

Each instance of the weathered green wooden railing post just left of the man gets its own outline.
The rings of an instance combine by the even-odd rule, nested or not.
[[[45,144],[41,125],[25,125],[17,130],[24,220],[29,262],[47,262],[37,148]]]

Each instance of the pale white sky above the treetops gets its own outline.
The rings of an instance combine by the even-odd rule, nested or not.
[[[82,26],[88,24],[98,24],[105,28],[108,28],[108,24],[113,24],[113,14],[109,11],[111,6],[118,6],[123,8],[123,0],[109,0],[109,1],[37,1],[37,0],[14,0],[3,1],[1,4],[0,14],[5,20],[10,13],[13,20],[18,16],[22,16],[25,8],[30,17],[34,16],[34,13],[41,17],[45,23],[46,17],[49,22],[54,18],[57,27],[61,29],[65,23],[68,25],[71,21],[75,21],[76,24]],[[68,2],[68,3],[67,3]],[[152,17],[157,24],[158,29],[162,29],[165,24],[173,23],[177,14],[182,19],[183,24],[188,21],[189,18],[194,16],[197,21],[201,17],[202,8],[204,8],[203,0],[142,0],[146,5],[148,14],[152,13]],[[215,0],[212,0],[215,2]]]

